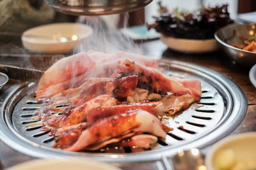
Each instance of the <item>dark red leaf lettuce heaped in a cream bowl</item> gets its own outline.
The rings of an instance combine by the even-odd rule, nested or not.
[[[179,12],[177,9],[169,12],[166,7],[160,6],[159,17],[156,22],[147,24],[148,29],[156,29],[164,36],[186,39],[211,39],[214,32],[221,27],[232,23],[228,13],[228,5],[202,7],[194,13]]]

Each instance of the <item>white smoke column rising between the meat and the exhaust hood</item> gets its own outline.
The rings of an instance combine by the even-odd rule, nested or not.
[[[124,27],[127,27],[129,15],[124,15]],[[90,37],[84,39],[77,48],[77,52],[95,50],[104,53],[118,51],[143,53],[139,44],[134,44],[131,38],[124,36],[118,27],[120,15],[106,15],[93,17],[80,17],[78,22],[84,22],[93,29]]]

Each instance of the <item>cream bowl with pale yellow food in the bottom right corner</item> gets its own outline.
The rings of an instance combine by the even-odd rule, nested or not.
[[[229,164],[230,157],[234,156],[233,160],[235,162],[232,164],[233,168],[235,166],[250,166],[252,161],[256,161],[256,132],[247,132],[230,136],[212,146],[205,157],[205,166],[207,167],[207,170],[218,170],[218,167],[220,166],[218,160],[220,160],[223,152],[227,153],[227,150],[231,150],[232,154],[226,154],[230,156],[221,159],[225,164]],[[253,168],[256,168],[256,166]],[[246,169],[252,169],[252,167],[247,167]]]

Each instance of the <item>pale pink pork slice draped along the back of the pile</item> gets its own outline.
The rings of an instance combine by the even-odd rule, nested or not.
[[[122,60],[129,58],[143,64],[143,66],[157,67],[157,61],[149,59],[143,55],[135,53],[117,52],[117,53],[101,53],[101,52],[81,52],[71,55],[54,63],[40,78],[38,89],[46,89],[50,85],[56,85],[62,81],[70,80],[76,76],[84,74],[86,77],[93,72],[90,71],[96,64],[105,64],[113,62],[113,60]],[[99,68],[99,67],[98,67]]]

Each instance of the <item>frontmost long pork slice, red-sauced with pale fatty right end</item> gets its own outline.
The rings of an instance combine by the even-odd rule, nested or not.
[[[129,132],[146,132],[161,139],[164,139],[166,136],[158,118],[147,111],[134,110],[113,115],[96,122],[81,132],[81,135],[72,146],[61,146],[60,143],[58,146],[67,151],[79,151],[94,143],[123,136]],[[67,134],[65,136],[67,137]],[[60,138],[61,134],[58,139]]]

